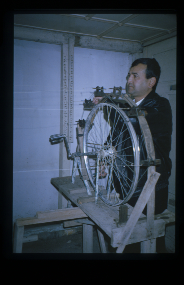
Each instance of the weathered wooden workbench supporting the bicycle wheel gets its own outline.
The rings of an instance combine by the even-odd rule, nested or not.
[[[95,192],[91,187],[92,195],[88,195],[83,181],[76,176],[75,184],[71,183],[71,176],[52,178],[53,183],[59,192],[65,194],[75,205],[77,205],[95,224],[97,224],[110,238],[111,246],[118,247],[122,228],[126,222],[117,227],[119,221],[119,206],[113,207],[98,200],[95,204]],[[91,198],[89,198],[91,197]],[[85,199],[87,198],[87,199]],[[87,202],[90,201],[91,202]],[[133,210],[128,203],[128,218]],[[165,235],[165,224],[175,221],[175,214],[165,210],[164,213],[155,215],[154,220],[154,239]],[[77,223],[76,223],[77,225]],[[146,229],[146,216],[141,214],[135,225],[127,244],[143,242],[149,240],[150,236]]]

